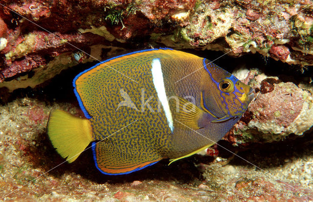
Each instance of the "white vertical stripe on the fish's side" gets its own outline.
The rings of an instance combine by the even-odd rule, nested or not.
[[[174,131],[173,117],[172,117],[172,112],[170,110],[170,106],[168,105],[168,100],[167,100],[165,87],[164,87],[163,73],[162,73],[161,63],[160,63],[159,58],[152,60],[151,72],[152,72],[153,84],[155,85],[158,99],[160,100],[163,110],[165,112],[165,116],[168,121],[168,126],[170,127],[173,133]]]

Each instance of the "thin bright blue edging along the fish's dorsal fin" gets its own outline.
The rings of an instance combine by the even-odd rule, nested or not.
[[[106,63],[106,62],[109,62],[109,61],[111,61],[111,60],[114,60],[114,59],[116,59],[116,58],[120,58],[120,57],[123,57],[123,56],[126,56],[126,55],[132,55],[132,54],[134,54],[134,53],[140,53],[140,52],[146,52],[146,51],[153,51],[153,50],[159,50],[159,49],[162,49],[162,50],[173,50],[172,48],[152,48],[152,49],[138,50],[138,51],[126,53],[126,54],[124,54],[124,55],[119,55],[119,56],[110,58],[110,59],[108,59],[108,60],[102,61],[102,62],[97,63],[96,65],[94,65],[94,66],[92,66],[92,67],[90,67],[90,68],[88,68],[88,69],[86,69],[86,70],[80,72],[79,74],[77,74],[77,75],[75,76],[75,78],[73,79],[73,83],[72,83],[72,84],[73,84],[73,87],[74,87],[75,96],[76,96],[76,98],[77,98],[77,100],[78,100],[78,103],[79,103],[79,107],[80,107],[80,108],[82,109],[82,111],[84,112],[86,118],[90,119],[91,116],[90,116],[89,112],[87,112],[86,108],[84,107],[84,104],[83,104],[83,102],[82,102],[82,99],[80,98],[80,96],[79,96],[79,94],[78,94],[78,92],[77,92],[77,90],[76,90],[75,82],[76,82],[76,80],[78,79],[78,77],[80,77],[82,74],[88,72],[89,70],[91,70],[91,69],[93,69],[93,68],[95,68],[95,67],[98,67],[99,65],[101,65],[101,64],[103,64],[103,63]]]

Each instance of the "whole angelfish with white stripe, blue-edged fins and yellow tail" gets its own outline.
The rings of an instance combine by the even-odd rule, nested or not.
[[[164,158],[173,162],[213,145],[254,97],[223,68],[169,48],[98,63],[78,74],[73,87],[86,118],[52,110],[47,134],[69,163],[91,142],[95,166],[107,175]]]

